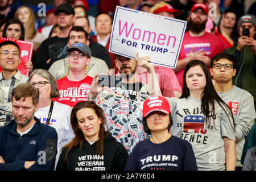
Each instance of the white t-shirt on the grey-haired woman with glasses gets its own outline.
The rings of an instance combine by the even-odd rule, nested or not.
[[[39,108],[39,110],[35,113],[35,117],[37,117],[41,121],[41,123],[46,124],[49,113],[49,107],[50,106]],[[68,105],[61,104],[56,101],[53,104],[52,117],[49,122],[49,126],[54,127],[58,135],[55,168],[59,160],[61,148],[65,144],[67,144],[69,140],[75,137],[70,122],[71,111],[72,107]]]

